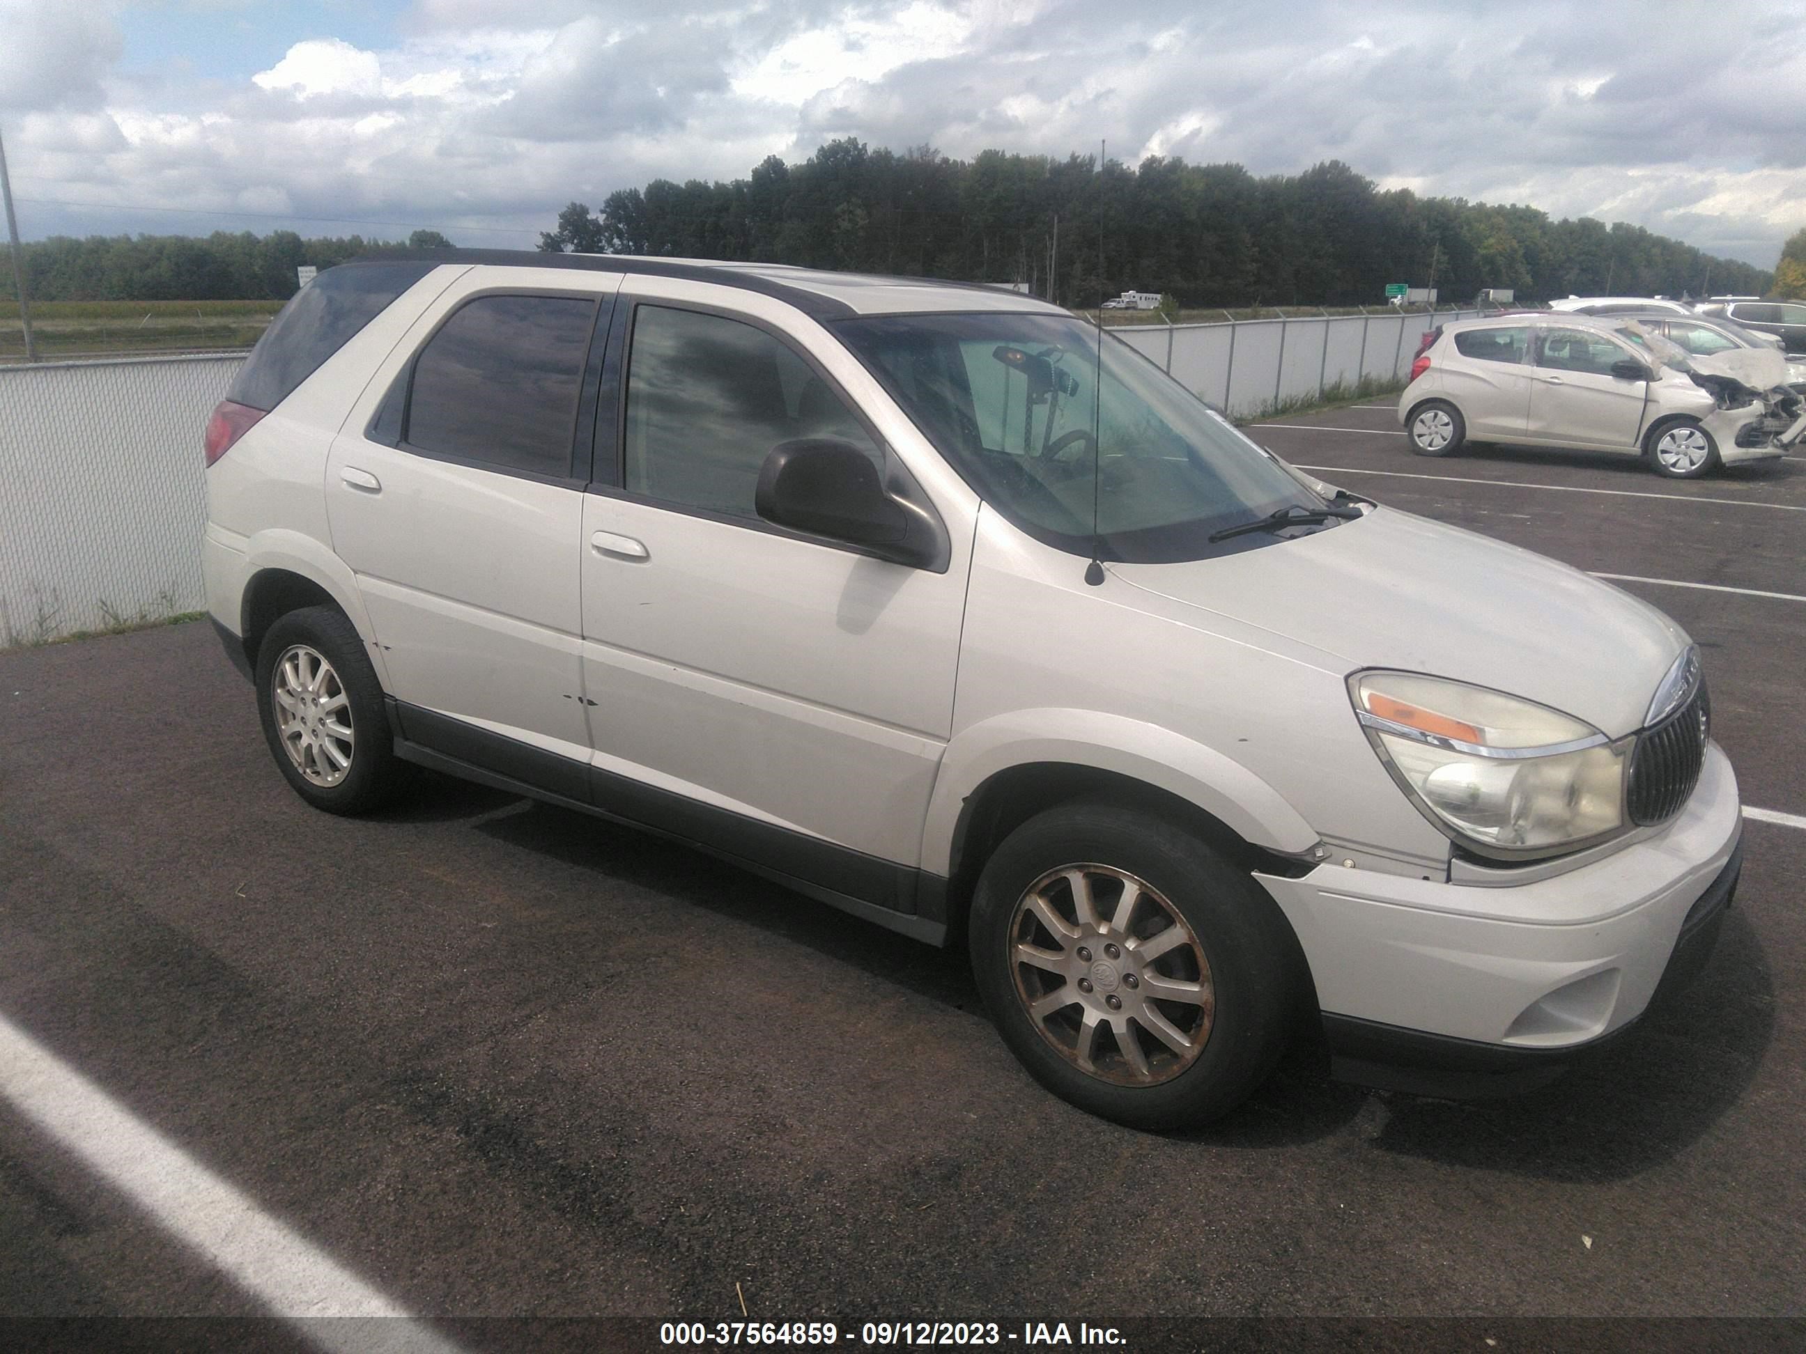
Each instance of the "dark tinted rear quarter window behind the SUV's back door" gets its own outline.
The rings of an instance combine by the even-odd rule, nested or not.
[[[273,410],[350,338],[437,264],[345,264],[327,269],[282,307],[238,368],[226,399]]]

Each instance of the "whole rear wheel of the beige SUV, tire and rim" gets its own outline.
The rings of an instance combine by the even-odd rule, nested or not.
[[[406,782],[383,686],[345,612],[305,607],[278,617],[256,650],[256,695],[276,769],[316,809],[370,812]]]

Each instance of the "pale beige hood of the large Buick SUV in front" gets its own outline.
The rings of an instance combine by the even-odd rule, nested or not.
[[[1643,726],[1689,643],[1654,607],[1578,569],[1389,507],[1239,554],[1111,572],[1311,645],[1347,672],[1490,686],[1613,738]]]

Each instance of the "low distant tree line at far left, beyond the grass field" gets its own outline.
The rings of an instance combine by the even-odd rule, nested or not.
[[[439,231],[414,231],[406,242],[361,235],[303,240],[294,231],[52,235],[31,240],[22,255],[34,301],[262,301],[293,296],[302,264],[325,269],[359,255],[450,244]],[[18,300],[11,269],[0,269],[0,300]]]

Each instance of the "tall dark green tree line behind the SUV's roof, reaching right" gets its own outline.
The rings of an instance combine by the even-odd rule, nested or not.
[[[1096,155],[972,161],[831,141],[746,179],[623,188],[573,202],[540,249],[726,258],[963,282],[1026,282],[1062,305],[1127,289],[1188,307],[1362,305],[1389,282],[1445,300],[1763,294],[1772,274],[1645,231],[1530,206],[1380,191],[1340,161],[1255,177],[1239,164]]]

